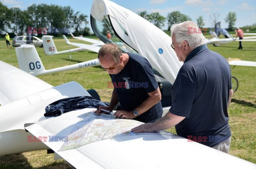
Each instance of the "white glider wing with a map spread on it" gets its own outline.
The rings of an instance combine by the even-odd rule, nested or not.
[[[246,160],[169,132],[132,133],[130,129],[141,122],[109,119],[94,115],[93,110],[42,117],[26,129],[37,138],[47,137],[43,143],[76,168],[198,168],[198,164],[207,168],[255,168]]]

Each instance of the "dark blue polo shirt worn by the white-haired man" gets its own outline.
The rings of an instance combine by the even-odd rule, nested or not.
[[[226,59],[206,45],[194,49],[173,83],[170,112],[186,117],[175,125],[177,134],[210,147],[229,138],[227,105],[231,88]]]

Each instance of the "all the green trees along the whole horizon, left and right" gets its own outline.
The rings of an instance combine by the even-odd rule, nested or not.
[[[159,14],[159,12],[148,14],[147,11],[142,11],[139,12],[138,15],[153,23],[159,29],[164,27],[165,21],[167,21],[167,30],[170,30],[173,23],[191,21],[191,18],[188,15],[182,14],[179,11],[173,11],[167,14],[166,18]],[[213,13],[210,16],[213,26],[219,21],[219,15],[220,14]],[[5,33],[7,30],[11,29],[13,31],[13,35],[14,32],[21,35],[27,32],[28,28],[65,28],[66,30],[75,29],[75,36],[88,36],[90,35],[90,28],[86,27],[89,23],[87,18],[87,15],[75,12],[70,6],[33,4],[28,6],[26,10],[22,11],[18,7],[12,7],[9,9],[0,2],[0,33]],[[233,31],[235,29],[234,26],[236,20],[236,13],[229,12],[225,18],[225,22],[228,23],[229,31]],[[205,23],[203,16],[199,16],[196,21],[199,28],[204,27]],[[82,28],[82,25],[85,25],[85,27]],[[246,29],[247,28],[250,28],[250,30],[256,30],[255,24],[252,26],[246,26]],[[61,32],[61,35],[62,33],[63,32]],[[47,32],[47,34],[51,35],[53,33]]]

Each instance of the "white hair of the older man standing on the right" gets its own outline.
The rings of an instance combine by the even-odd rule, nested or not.
[[[198,46],[204,45],[206,38],[203,36],[202,31],[198,30],[199,27],[196,23],[185,21],[179,24],[172,24],[171,36],[175,36],[177,43],[182,43],[186,40],[188,45],[195,49]],[[195,31],[196,30],[196,31]],[[199,31],[199,33],[198,33]]]

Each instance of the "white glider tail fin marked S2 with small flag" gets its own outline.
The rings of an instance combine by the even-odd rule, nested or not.
[[[44,35],[42,37],[45,55],[54,55],[58,53],[52,37],[53,36],[50,35]]]

